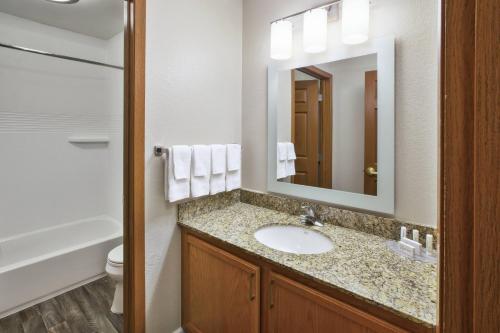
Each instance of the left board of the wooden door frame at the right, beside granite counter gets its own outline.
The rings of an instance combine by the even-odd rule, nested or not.
[[[439,327],[465,333],[472,332],[475,1],[442,5]]]

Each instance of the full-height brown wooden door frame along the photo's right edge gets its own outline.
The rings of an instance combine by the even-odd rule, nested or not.
[[[498,0],[443,0],[439,332],[500,330]]]

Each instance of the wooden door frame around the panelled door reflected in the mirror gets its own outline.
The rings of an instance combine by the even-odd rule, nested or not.
[[[307,66],[297,68],[299,72],[310,75],[320,81],[320,92],[323,95],[323,101],[320,102],[321,109],[321,122],[322,124],[332,124],[333,122],[333,110],[332,110],[332,100],[333,100],[333,79],[332,74],[316,67]],[[292,70],[292,141],[295,133],[295,72]],[[333,126],[332,126],[333,127]],[[320,177],[320,187],[332,188],[332,132],[333,128],[329,127],[329,131],[323,130],[323,136],[321,138],[321,177]],[[325,127],[323,127],[324,129]]]

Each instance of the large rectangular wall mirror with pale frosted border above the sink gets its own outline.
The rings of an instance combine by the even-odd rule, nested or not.
[[[394,40],[269,67],[268,190],[394,212]]]

